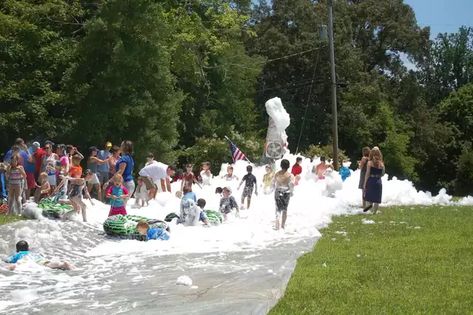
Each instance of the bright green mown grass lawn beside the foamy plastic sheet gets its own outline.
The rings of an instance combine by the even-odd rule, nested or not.
[[[473,207],[380,211],[335,218],[270,314],[473,314]]]

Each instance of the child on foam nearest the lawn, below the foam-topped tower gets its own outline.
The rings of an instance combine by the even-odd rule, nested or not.
[[[284,159],[281,161],[281,170],[274,175],[273,186],[274,186],[274,199],[276,201],[276,224],[274,229],[279,230],[286,226],[287,219],[287,207],[289,205],[289,199],[291,198],[294,190],[294,175],[288,172],[289,161]],[[279,218],[282,214],[282,221],[279,222]]]

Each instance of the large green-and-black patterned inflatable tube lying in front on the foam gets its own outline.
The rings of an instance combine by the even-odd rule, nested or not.
[[[145,235],[140,235],[136,230],[136,225],[140,221],[148,222],[150,228],[162,228],[169,232],[166,222],[148,219],[138,215],[112,215],[103,223],[103,229],[108,236],[122,239],[146,240]]]

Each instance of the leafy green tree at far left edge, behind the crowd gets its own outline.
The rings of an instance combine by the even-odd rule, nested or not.
[[[67,126],[61,79],[85,11],[80,1],[0,3],[0,147],[52,138]]]

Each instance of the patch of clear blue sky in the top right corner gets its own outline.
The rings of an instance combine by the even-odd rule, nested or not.
[[[460,26],[473,27],[473,0],[404,0],[416,14],[420,26],[430,26],[430,38],[454,33]]]

